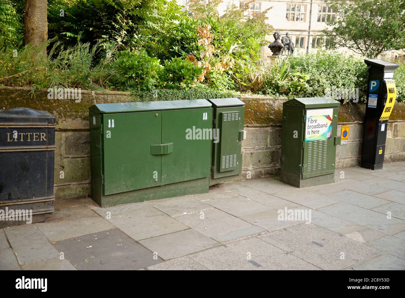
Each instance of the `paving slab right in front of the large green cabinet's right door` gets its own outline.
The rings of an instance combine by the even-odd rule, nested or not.
[[[154,201],[148,203],[172,217],[212,208],[212,206],[193,197],[172,198],[167,201]]]

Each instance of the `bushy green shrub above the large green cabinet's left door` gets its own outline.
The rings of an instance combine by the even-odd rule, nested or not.
[[[117,68],[126,88],[151,90],[159,82],[162,65],[159,59],[149,57],[144,51],[122,51],[118,54]]]

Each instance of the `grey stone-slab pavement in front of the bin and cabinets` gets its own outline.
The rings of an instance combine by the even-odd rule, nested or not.
[[[226,182],[208,194],[0,229],[1,270],[404,270],[405,162],[337,169],[335,183]]]

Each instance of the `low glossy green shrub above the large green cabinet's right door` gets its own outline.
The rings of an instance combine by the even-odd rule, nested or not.
[[[173,57],[171,60],[165,60],[164,69],[160,75],[160,85],[169,88],[183,86],[188,89],[201,75],[203,68],[182,58]]]

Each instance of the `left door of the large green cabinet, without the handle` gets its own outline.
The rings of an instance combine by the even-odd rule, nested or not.
[[[161,112],[104,114],[102,123],[104,195],[160,185],[162,157],[151,145],[160,144]]]

